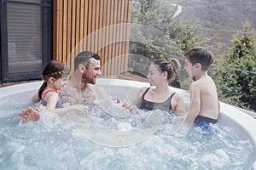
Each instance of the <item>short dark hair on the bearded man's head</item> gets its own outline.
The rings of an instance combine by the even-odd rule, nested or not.
[[[90,59],[100,60],[100,56],[90,51],[79,53],[74,59],[74,69],[77,70],[80,64],[84,64],[86,68],[90,65]]]

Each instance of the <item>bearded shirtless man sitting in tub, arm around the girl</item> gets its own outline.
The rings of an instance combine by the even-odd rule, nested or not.
[[[108,99],[106,92],[95,86],[96,77],[101,75],[100,56],[89,51],[79,53],[74,59],[74,72],[61,90],[63,102],[69,105],[94,105],[96,99]],[[35,122],[40,118],[40,113],[32,107],[18,115],[22,122]]]

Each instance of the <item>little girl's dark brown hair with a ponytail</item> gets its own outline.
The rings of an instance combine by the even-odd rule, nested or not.
[[[69,74],[69,68],[61,63],[60,61],[50,61],[47,65],[44,66],[42,71],[42,78],[44,80],[42,86],[38,90],[38,98],[42,99],[42,94],[44,89],[47,87],[47,81],[50,77],[54,77],[55,80],[61,78],[63,74]]]

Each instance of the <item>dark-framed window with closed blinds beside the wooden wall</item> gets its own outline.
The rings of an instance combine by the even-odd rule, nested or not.
[[[1,82],[40,79],[52,59],[52,1],[1,3]]]

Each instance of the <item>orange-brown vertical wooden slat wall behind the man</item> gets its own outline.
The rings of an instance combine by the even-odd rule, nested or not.
[[[54,0],[54,59],[73,69],[73,59],[88,50],[101,56],[102,75],[127,71],[130,0]]]

